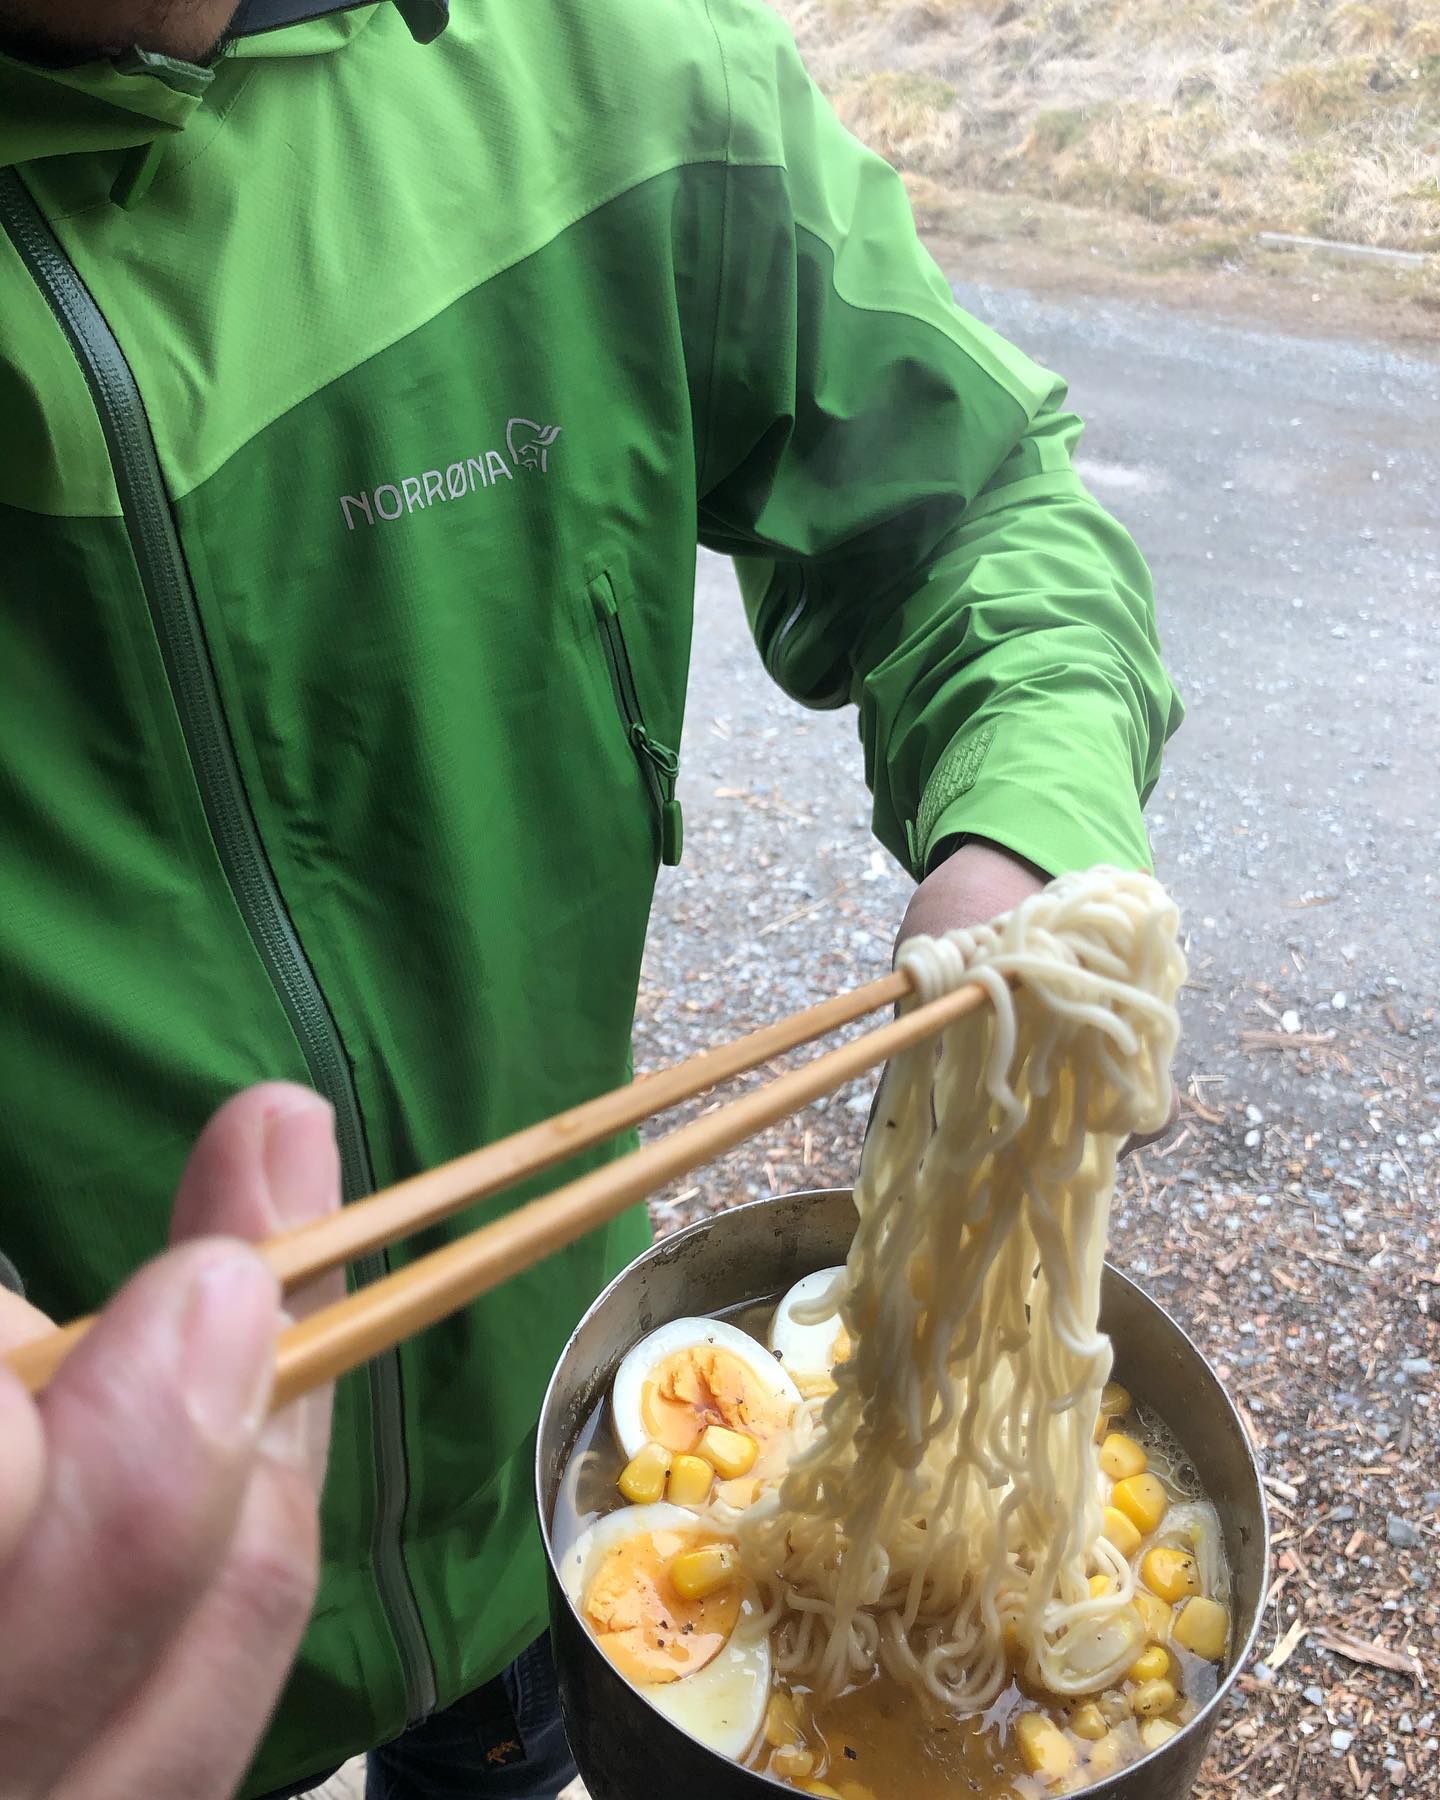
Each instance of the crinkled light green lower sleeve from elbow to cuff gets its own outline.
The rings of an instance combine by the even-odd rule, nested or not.
[[[1141,805],[1181,718],[1148,571],[1067,468],[1008,473],[860,646],[877,833],[916,878],[956,835],[1049,875],[1148,866]]]

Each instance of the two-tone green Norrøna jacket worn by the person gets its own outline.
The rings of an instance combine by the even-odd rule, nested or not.
[[[358,1195],[626,1080],[697,538],[770,675],[857,706],[916,875],[958,832],[1147,860],[1177,704],[1062,383],[756,0],[0,61],[0,1249],[54,1314],[248,1082],[335,1102]],[[542,1627],[540,1393],[643,1242],[344,1384],[252,1791]]]

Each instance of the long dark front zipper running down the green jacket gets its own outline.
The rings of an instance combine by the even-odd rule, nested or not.
[[[211,835],[310,1078],[335,1109],[346,1199],[358,1199],[374,1188],[360,1098],[335,1019],[259,841],[140,391],[94,295],[14,169],[0,171],[0,225],[45,295],[90,387]],[[356,1282],[373,1282],[385,1267],[383,1256],[365,1256],[355,1264]],[[416,1721],[434,1710],[436,1674],[401,1548],[409,1471],[394,1352],[369,1364],[369,1393],[376,1449],[374,1580],[405,1674],[407,1714]]]

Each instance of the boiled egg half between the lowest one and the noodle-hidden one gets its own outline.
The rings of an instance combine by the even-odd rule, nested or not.
[[[774,1355],[724,1319],[662,1325],[625,1357],[610,1390],[626,1456],[646,1444],[688,1454],[720,1426],[754,1440],[747,1474],[760,1481],[783,1471],[799,1406],[799,1390]]]

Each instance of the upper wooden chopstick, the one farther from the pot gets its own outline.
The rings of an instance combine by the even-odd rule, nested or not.
[[[707,1087],[758,1069],[772,1057],[824,1037],[842,1024],[853,1024],[882,1006],[893,1006],[909,992],[911,977],[895,972],[846,994],[835,994],[815,1006],[761,1026],[760,1031],[716,1044],[715,1049],[688,1057],[670,1069],[659,1069],[639,1082],[626,1082],[625,1087],[596,1094],[594,1100],[585,1100],[567,1112],[556,1112],[508,1138],[497,1138],[495,1143],[439,1168],[398,1181],[338,1213],[266,1238],[259,1251],[288,1292],[317,1274],[342,1269],[360,1256],[398,1244],[500,1188],[563,1163],[580,1150],[589,1150],[590,1145],[616,1138],[655,1112],[693,1100]],[[13,1350],[7,1357],[9,1366],[32,1393],[40,1391],[92,1323],[92,1318],[72,1319],[61,1330]]]

